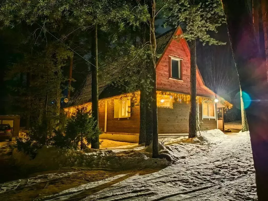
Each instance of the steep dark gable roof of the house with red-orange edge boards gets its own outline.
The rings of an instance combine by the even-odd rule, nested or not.
[[[183,33],[182,29],[180,26],[178,26],[176,29],[170,29],[169,31],[166,31],[165,33],[159,35],[156,38],[156,43],[157,43],[157,50],[156,53],[157,55],[161,54],[161,56],[157,59],[157,64],[161,60],[163,54],[165,53],[166,49],[168,48],[169,44],[173,40],[173,38],[176,36],[176,34],[181,34]],[[185,39],[182,39],[185,40]],[[186,51],[186,54],[190,60],[190,51],[189,51],[189,46],[187,41],[185,40],[184,43],[184,49]],[[199,82],[200,86],[204,88],[209,94],[215,95],[216,94],[211,91],[209,88],[207,88],[204,84],[203,78],[200,74],[200,71],[198,67],[196,66],[196,77],[197,81]],[[116,72],[117,69],[111,69],[109,73],[103,73],[102,71],[99,71],[99,80],[98,80],[98,87],[99,87],[99,98],[108,98],[110,97],[111,94],[114,95],[120,95],[120,91],[116,90],[113,86],[109,86],[110,84],[107,82],[106,79],[103,79],[106,74],[106,76],[112,77],[114,73]],[[91,102],[91,73],[87,75],[87,78],[84,80],[83,84],[81,84],[80,88],[75,92],[75,94],[71,97],[69,102],[66,104],[65,107],[70,107],[73,105],[81,105],[87,102]],[[109,93],[107,93],[109,91]],[[102,92],[105,92],[102,93]]]

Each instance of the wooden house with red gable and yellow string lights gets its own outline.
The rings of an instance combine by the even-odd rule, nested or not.
[[[177,40],[180,27],[157,38],[157,106],[159,137],[176,137],[188,133],[190,100],[190,51],[185,39]],[[223,107],[232,104],[217,96],[204,84],[196,69],[198,121],[203,129],[218,128],[217,103]],[[71,114],[77,107],[91,108],[91,76],[81,90],[68,102],[65,110]],[[134,103],[134,104],[132,104]],[[130,107],[134,105],[133,107]],[[139,91],[113,94],[105,81],[99,81],[99,127],[101,139],[138,142],[140,129]]]

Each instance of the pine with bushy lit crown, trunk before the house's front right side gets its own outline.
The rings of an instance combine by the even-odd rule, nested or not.
[[[210,1],[180,1],[172,7],[163,10],[170,26],[185,26],[184,33],[177,37],[178,40],[185,38],[189,42],[191,54],[190,68],[190,113],[189,113],[189,135],[196,136],[196,39],[203,44],[222,45],[224,43],[211,38],[209,31],[217,32],[217,27],[224,22],[224,13],[219,0]],[[170,14],[171,13],[171,14]]]

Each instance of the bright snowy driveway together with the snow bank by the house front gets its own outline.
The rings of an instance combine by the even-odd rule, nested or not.
[[[89,188],[98,184],[92,182],[35,200],[257,200],[249,133],[201,134],[167,142],[161,152],[173,164],[158,172],[128,177],[93,194]]]

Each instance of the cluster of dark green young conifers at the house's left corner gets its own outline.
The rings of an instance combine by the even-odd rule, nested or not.
[[[33,159],[36,151],[44,145],[52,145],[60,148],[84,149],[91,143],[99,129],[94,129],[96,121],[91,117],[86,107],[77,109],[76,114],[70,119],[64,113],[57,116],[57,124],[51,135],[48,135],[46,124],[38,124],[32,127],[24,137],[16,139],[18,151],[23,151]]]

